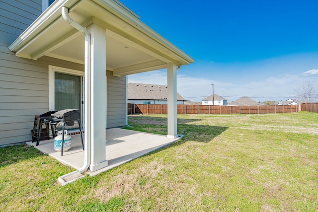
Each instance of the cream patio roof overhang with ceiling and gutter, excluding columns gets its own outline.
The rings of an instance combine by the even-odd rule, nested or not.
[[[62,17],[61,8],[83,27],[106,28],[106,69],[113,75],[153,71],[167,63],[183,66],[194,60],[142,23],[116,0],[56,0],[10,46],[16,56],[42,56],[84,64],[84,36]]]

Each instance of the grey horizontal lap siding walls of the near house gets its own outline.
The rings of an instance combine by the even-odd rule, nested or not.
[[[0,146],[30,141],[34,115],[49,111],[49,65],[84,71],[81,64],[45,56],[34,61],[9,51],[42,12],[42,0],[27,2],[0,0]],[[126,77],[115,77],[111,71],[106,75],[107,127],[124,126]]]

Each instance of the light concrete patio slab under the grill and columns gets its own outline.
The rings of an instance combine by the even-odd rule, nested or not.
[[[68,151],[63,152],[63,156],[61,156],[61,152],[54,150],[53,139],[40,141],[38,146],[36,146],[36,142],[31,141],[27,142],[27,144],[33,145],[41,152],[51,155],[63,164],[79,169],[84,164],[84,151],[81,146],[80,135],[73,135],[71,138],[72,146]],[[87,173],[90,175],[99,174],[169,145],[181,138],[180,136],[176,139],[170,139],[163,135],[120,128],[107,129],[105,148],[108,166],[94,172],[87,171]]]

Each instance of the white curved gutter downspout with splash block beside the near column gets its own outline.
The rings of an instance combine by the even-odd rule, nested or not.
[[[90,94],[88,93],[88,86],[90,86],[90,34],[89,32],[79,25],[75,20],[73,20],[69,16],[69,8],[63,6],[62,7],[62,16],[66,22],[68,22],[71,26],[79,30],[85,36],[85,99],[90,99]],[[81,175],[82,172],[86,171],[89,167],[90,162],[90,102],[85,101],[85,133],[84,133],[84,164],[77,171],[68,173],[59,177],[59,181],[62,185],[66,185],[74,182],[76,179],[83,177]],[[74,175],[75,177],[71,177]],[[69,177],[71,180],[66,181],[65,178]]]

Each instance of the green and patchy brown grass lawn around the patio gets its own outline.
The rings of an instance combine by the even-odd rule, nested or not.
[[[166,115],[132,115],[165,135]],[[0,148],[0,211],[318,211],[318,114],[178,115],[185,137],[97,176],[37,149]]]

